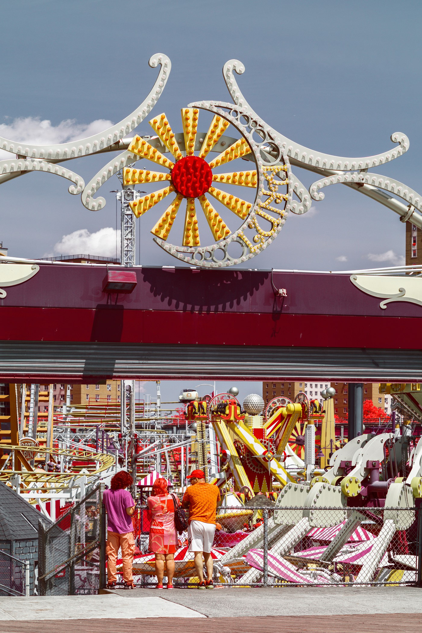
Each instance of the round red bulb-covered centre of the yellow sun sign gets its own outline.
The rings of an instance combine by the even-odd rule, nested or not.
[[[171,181],[182,196],[199,197],[211,187],[213,172],[203,158],[185,156],[171,170]]]

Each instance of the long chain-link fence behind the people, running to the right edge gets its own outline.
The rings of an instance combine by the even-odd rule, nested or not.
[[[218,508],[214,585],[422,586],[421,520],[419,508]],[[134,525],[134,582],[155,586],[145,508]],[[196,586],[187,533],[179,538],[173,584]]]

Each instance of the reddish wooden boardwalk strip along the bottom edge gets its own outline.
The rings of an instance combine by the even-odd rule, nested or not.
[[[1,633],[420,633],[421,613],[267,616],[233,618],[135,618],[127,620],[3,620]]]

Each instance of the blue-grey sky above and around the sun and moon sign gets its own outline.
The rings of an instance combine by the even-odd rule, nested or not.
[[[153,112],[165,111],[180,131],[182,106],[228,100],[221,68],[237,58],[245,65],[239,85],[254,110],[315,151],[368,156],[392,148],[393,132],[407,134],[409,151],[378,170],[422,191],[418,0],[3,0],[1,13],[3,136],[24,141],[18,133],[47,134],[65,141],[80,138],[98,120],[121,120],[154,83],[156,70],[147,61],[159,51],[170,57],[172,71]],[[50,123],[42,127],[41,121]],[[150,130],[144,122],[137,131]],[[72,168],[87,182],[108,160],[96,156]],[[309,186],[313,179],[297,173]],[[65,181],[49,175],[1,185],[0,241],[9,254],[37,257],[58,254],[54,246],[65,248],[64,235],[82,231],[89,246],[90,234],[116,228],[108,191],[118,182],[109,183],[101,189],[108,204],[95,213],[68,194]],[[140,262],[175,265],[152,242],[151,227],[141,218]],[[337,185],[308,214],[290,215],[252,265],[364,268],[373,265],[370,254],[385,254],[380,265],[392,265],[404,255],[404,234],[392,211]]]

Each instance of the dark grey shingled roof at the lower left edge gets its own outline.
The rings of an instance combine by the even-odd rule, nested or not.
[[[53,523],[20,494],[0,482],[0,541],[34,539],[40,519],[44,523]]]

